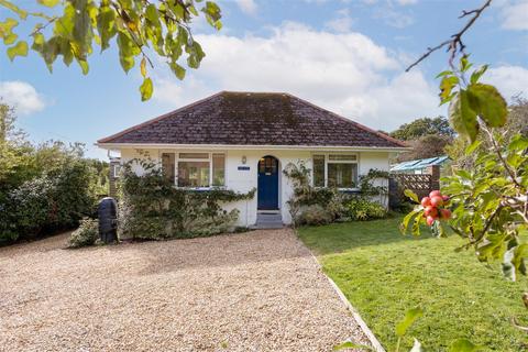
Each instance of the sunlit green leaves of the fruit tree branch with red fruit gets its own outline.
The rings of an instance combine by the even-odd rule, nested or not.
[[[470,67],[462,57],[459,73],[439,75],[443,77],[442,102],[450,101],[453,127],[473,141],[465,154],[475,157],[471,169],[459,169],[442,179],[442,191],[453,205],[450,227],[466,240],[461,249],[473,248],[483,262],[502,260],[504,274],[516,279],[527,274],[528,244],[520,241],[519,230],[528,227],[528,138],[516,134],[506,142],[501,131],[495,131],[506,123],[506,103],[495,87],[479,82],[486,66],[474,70],[466,84],[464,75]],[[479,132],[486,138],[491,153],[487,147],[480,148]],[[404,228],[414,219],[413,232],[419,234],[422,211],[417,206],[405,218]],[[433,230],[443,232],[439,222]]]

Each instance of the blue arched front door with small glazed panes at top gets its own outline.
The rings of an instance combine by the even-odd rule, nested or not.
[[[258,209],[278,209],[278,161],[264,156],[258,162]]]

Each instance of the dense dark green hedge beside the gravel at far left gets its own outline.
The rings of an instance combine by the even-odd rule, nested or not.
[[[6,105],[0,105],[0,125],[4,131],[0,140],[0,242],[72,228],[92,213],[107,163],[84,158],[79,143],[30,143],[15,129],[14,111]]]

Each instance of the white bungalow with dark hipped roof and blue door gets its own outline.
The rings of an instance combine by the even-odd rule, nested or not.
[[[224,187],[256,197],[227,206],[239,224],[274,215],[290,223],[292,183],[282,173],[293,163],[311,169],[317,187],[354,190],[371,168],[388,170],[389,157],[406,145],[358,122],[288,94],[221,91],[101,139],[121,163],[157,161],[177,187]],[[134,165],[134,172],[142,173]]]

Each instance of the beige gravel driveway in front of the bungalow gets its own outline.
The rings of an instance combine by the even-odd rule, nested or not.
[[[292,230],[0,249],[1,351],[329,351],[365,343]]]

